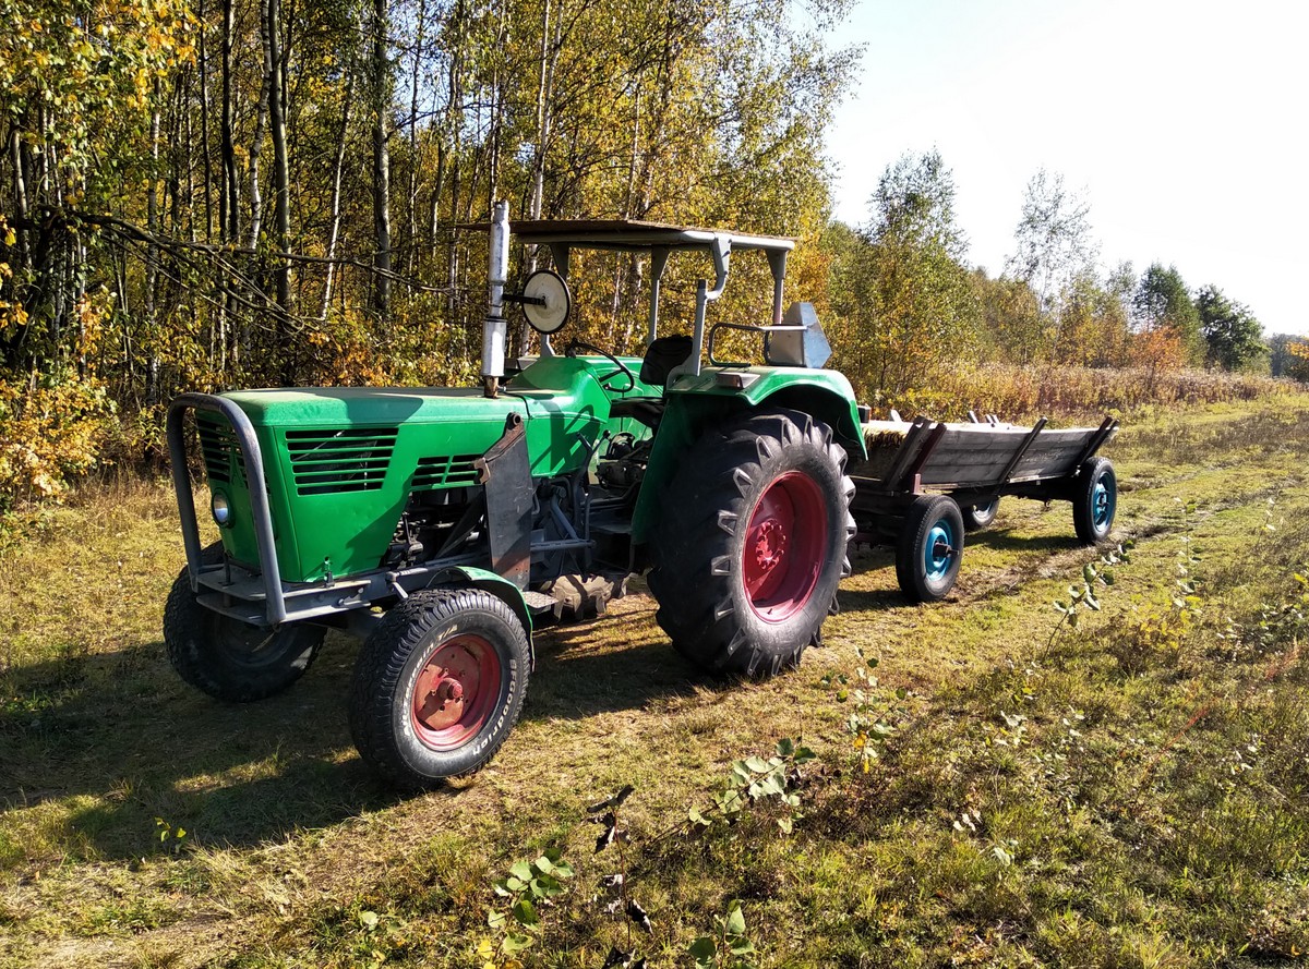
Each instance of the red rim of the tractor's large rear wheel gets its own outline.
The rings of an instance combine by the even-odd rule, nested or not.
[[[788,471],[750,513],[742,549],[745,594],[759,619],[781,622],[805,607],[818,585],[827,506],[808,475]]]

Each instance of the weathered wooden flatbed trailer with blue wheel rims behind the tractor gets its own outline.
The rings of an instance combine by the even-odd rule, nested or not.
[[[995,520],[1000,498],[1072,503],[1077,537],[1094,545],[1113,528],[1114,466],[1097,452],[1118,430],[1001,424],[995,417],[948,424],[928,417],[863,424],[867,460],[850,469],[855,543],[895,549],[895,575],[910,602],[936,602],[954,587],[965,532]],[[971,415],[970,415],[971,416]]]

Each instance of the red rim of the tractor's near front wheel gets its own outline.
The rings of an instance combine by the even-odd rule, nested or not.
[[[433,751],[453,751],[482,730],[499,698],[495,647],[480,636],[454,636],[437,643],[414,681],[414,732]]]

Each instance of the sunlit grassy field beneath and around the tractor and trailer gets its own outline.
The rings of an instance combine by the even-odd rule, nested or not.
[[[1309,398],[1144,417],[1109,454],[1134,544],[1076,628],[1054,602],[1097,553],[1060,503],[1008,500],[933,607],[860,552],[826,646],[764,683],[696,673],[634,582],[538,637],[487,770],[411,798],[351,747],[348,639],[258,705],[190,690],[168,490],[85,496],[0,558],[0,965],[505,965],[493,883],[547,849],[575,875],[528,966],[691,966],[698,936],[707,965],[1302,962]],[[725,823],[732,764],[797,736],[798,804]],[[596,854],[585,808],[624,785],[630,841]],[[603,910],[615,871],[651,932]]]

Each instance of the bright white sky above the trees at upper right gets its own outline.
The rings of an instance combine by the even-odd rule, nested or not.
[[[1175,265],[1266,335],[1309,333],[1309,5],[861,0],[836,42],[867,46],[829,129],[836,218],[935,148],[996,276],[1046,169],[1090,204],[1102,267]]]

